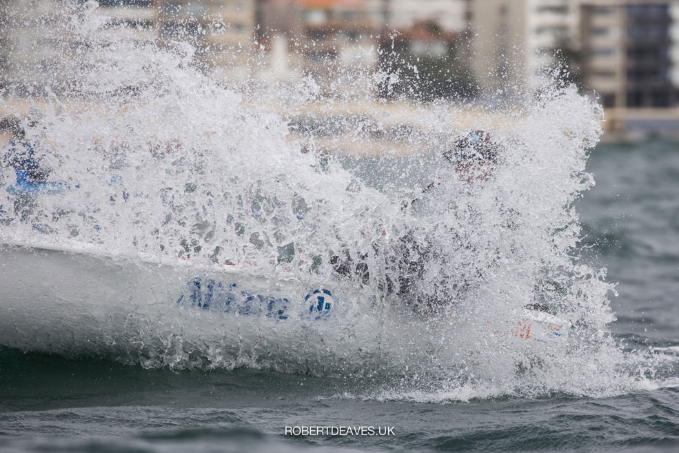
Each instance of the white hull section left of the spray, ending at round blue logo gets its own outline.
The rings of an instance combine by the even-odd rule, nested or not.
[[[22,349],[81,352],[90,344],[101,352],[130,339],[218,341],[232,331],[242,339],[263,324],[284,330],[295,320],[325,320],[331,305],[333,317],[347,309],[333,282],[320,279],[179,258],[152,263],[94,249],[2,245],[0,253],[0,344]]]

